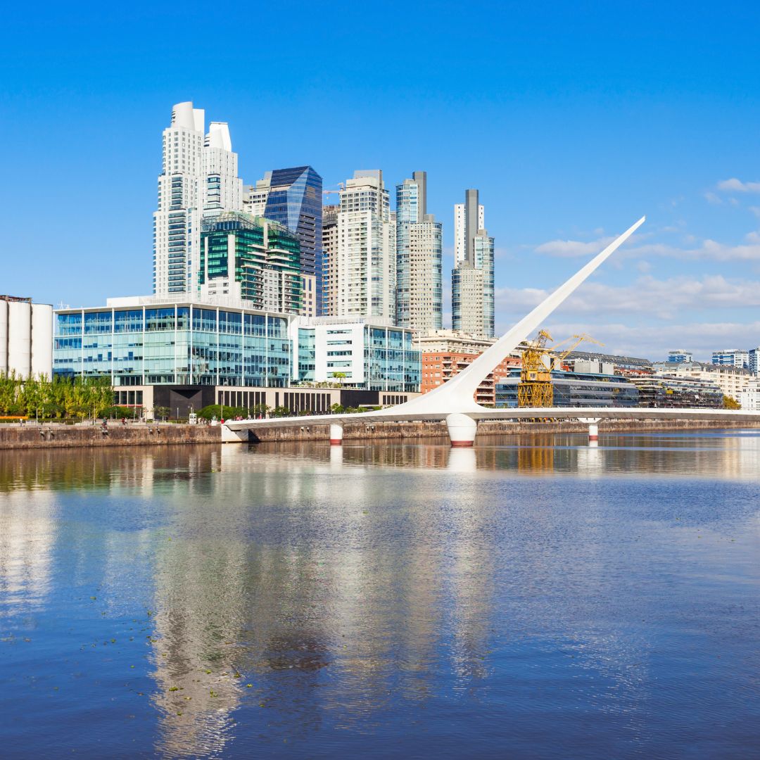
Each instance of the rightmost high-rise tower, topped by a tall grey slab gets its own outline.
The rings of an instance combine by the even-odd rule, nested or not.
[[[482,206],[477,190],[464,200],[464,259],[451,272],[451,326],[471,335],[493,337],[493,238],[480,227]],[[454,223],[457,223],[454,207]],[[461,223],[460,223],[461,226]]]

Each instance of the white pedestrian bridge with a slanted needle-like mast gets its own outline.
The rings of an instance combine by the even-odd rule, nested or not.
[[[602,252],[584,265],[569,280],[560,285],[541,302],[530,314],[483,351],[466,369],[434,391],[413,398],[405,404],[372,412],[355,414],[325,414],[315,416],[280,417],[265,420],[228,420],[223,425],[223,439],[226,441],[246,441],[249,431],[263,428],[299,427],[329,425],[330,442],[340,445],[343,441],[343,426],[347,423],[384,422],[436,422],[445,420],[452,446],[472,446],[479,420],[579,420],[589,426],[589,438],[597,437],[597,423],[600,420],[718,420],[731,423],[760,421],[760,411],[729,409],[663,409],[640,407],[549,407],[546,409],[489,409],[474,400],[477,387],[483,382],[506,356],[532,334],[562,302],[570,296],[625,240],[644,223],[645,217],[632,225],[619,238],[610,243]]]

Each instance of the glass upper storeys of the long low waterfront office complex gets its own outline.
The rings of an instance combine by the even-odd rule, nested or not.
[[[416,393],[421,367],[408,329],[149,296],[55,312],[53,373],[108,377],[116,389],[340,378],[350,389]]]

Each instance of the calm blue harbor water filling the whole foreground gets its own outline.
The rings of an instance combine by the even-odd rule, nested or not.
[[[0,451],[4,758],[760,757],[760,431]]]

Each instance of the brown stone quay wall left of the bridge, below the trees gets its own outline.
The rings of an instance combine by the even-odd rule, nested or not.
[[[101,446],[155,446],[178,443],[220,443],[219,426],[143,425],[0,425],[2,448],[92,448]]]

